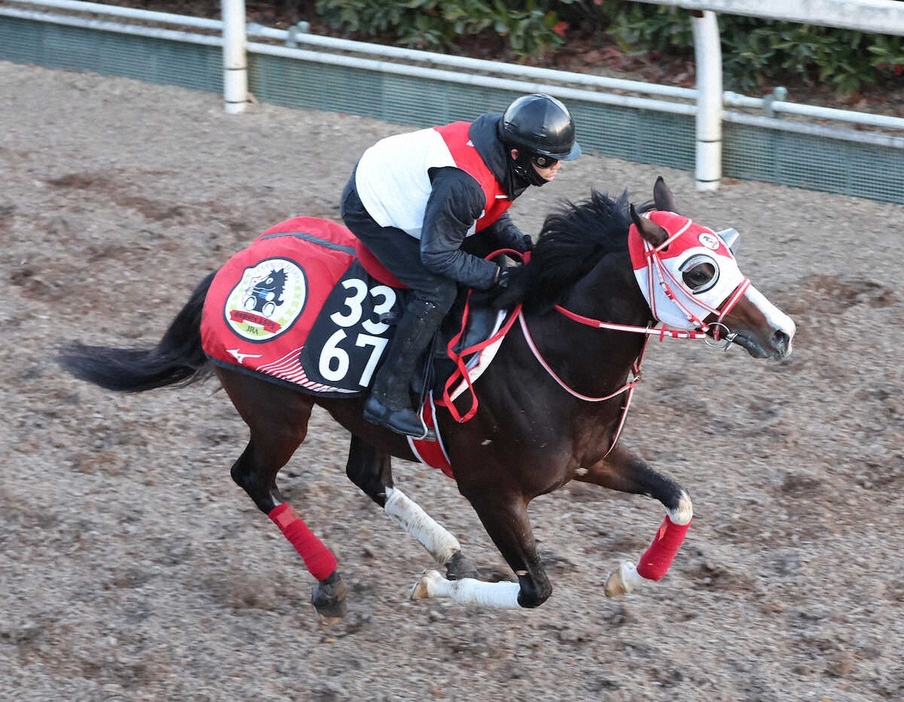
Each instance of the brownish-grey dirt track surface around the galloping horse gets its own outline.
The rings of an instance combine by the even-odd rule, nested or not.
[[[798,324],[775,363],[654,344],[623,441],[695,521],[668,576],[621,600],[660,505],[568,486],[531,507],[555,591],[534,611],[411,602],[427,554],[347,481],[315,415],[281,488],[339,557],[323,626],[289,544],[229,477],[247,440],[216,383],[119,397],[63,340],[156,343],[208,270],[295,214],[336,218],[357,156],[403,128],[0,63],[0,699],[904,698],[904,207],[581,158],[512,210],[536,232],[591,186],[662,173],[742,232],[742,269]],[[452,481],[399,487],[485,572],[507,568]]]

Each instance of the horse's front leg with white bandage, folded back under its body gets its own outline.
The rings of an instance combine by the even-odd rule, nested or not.
[[[459,604],[504,609],[539,607],[552,594],[552,584],[537,553],[527,500],[520,494],[500,491],[498,486],[462,490],[462,494],[518,576],[518,582],[487,583],[473,578],[450,581],[436,571],[428,571],[415,585],[412,599],[449,597]]]

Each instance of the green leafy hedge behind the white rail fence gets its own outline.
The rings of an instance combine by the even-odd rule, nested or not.
[[[334,30],[401,46],[544,63],[598,37],[626,55],[693,55],[688,13],[626,0],[316,0]],[[849,94],[904,80],[904,38],[732,15],[719,16],[725,87],[786,81]]]

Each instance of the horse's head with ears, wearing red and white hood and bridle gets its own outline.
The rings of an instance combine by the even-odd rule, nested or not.
[[[631,208],[628,248],[654,318],[667,328],[734,342],[755,358],[790,354],[794,322],[750,284],[726,241],[676,214],[662,178],[653,201],[656,209],[644,214]]]

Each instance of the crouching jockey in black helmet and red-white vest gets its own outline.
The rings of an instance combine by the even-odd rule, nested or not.
[[[413,293],[364,405],[368,421],[435,439],[412,408],[418,361],[459,284],[507,282],[504,268],[468,250],[531,247],[506,210],[529,186],[555,178],[560,161],[581,155],[574,131],[561,102],[525,95],[504,114],[390,136],[361,156],[342,193],[342,219]]]

